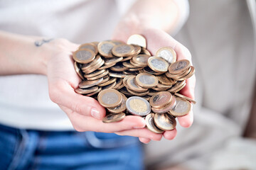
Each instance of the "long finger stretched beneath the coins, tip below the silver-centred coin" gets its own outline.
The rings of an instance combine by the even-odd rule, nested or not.
[[[65,110],[68,108],[63,109]],[[74,112],[68,113],[68,117],[70,118],[75,130],[79,132],[117,132],[122,130],[130,130],[132,128],[144,128],[146,125],[144,118],[133,115],[127,115],[123,120],[115,123],[103,123],[102,120],[97,120],[90,116],[80,115]]]

